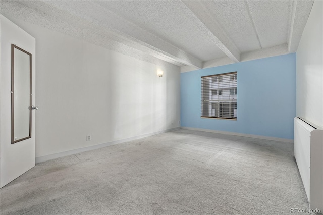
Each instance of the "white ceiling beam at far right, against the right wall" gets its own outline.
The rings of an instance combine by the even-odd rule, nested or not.
[[[291,24],[287,41],[289,53],[297,51],[313,3],[314,0],[295,0],[292,4]]]

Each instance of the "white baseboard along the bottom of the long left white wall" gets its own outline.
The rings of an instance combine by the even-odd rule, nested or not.
[[[92,146],[85,147],[85,148],[77,148],[77,149],[73,149],[73,150],[70,150],[70,151],[63,151],[63,152],[59,152],[59,153],[55,153],[55,154],[49,154],[49,155],[45,155],[45,156],[41,156],[41,157],[36,157],[36,164],[41,163],[41,162],[45,162],[47,160],[56,159],[56,158],[59,158],[59,157],[64,157],[64,156],[68,156],[68,155],[72,155],[72,154],[81,153],[81,152],[84,152],[84,151],[90,151],[90,150],[94,150],[94,149],[99,149],[99,148],[103,148],[103,147],[106,147],[106,146],[116,145],[116,144],[119,144],[119,143],[124,143],[124,142],[132,141],[132,140],[136,140],[136,139],[140,139],[140,138],[144,138],[144,137],[149,137],[149,136],[156,135],[156,134],[161,134],[161,133],[165,133],[165,132],[169,132],[169,131],[175,131],[175,130],[178,130],[178,129],[180,129],[180,127],[166,129],[166,130],[163,130],[163,131],[157,131],[157,132],[153,132],[153,133],[150,133],[150,134],[143,134],[143,135],[139,135],[139,136],[135,136],[135,137],[130,137],[130,138],[127,138],[127,139],[122,139],[122,140],[102,143],[102,144],[98,144],[98,145],[92,145]]]

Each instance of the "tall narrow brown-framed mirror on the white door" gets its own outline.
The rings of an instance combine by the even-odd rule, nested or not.
[[[11,143],[31,138],[31,53],[11,45]]]

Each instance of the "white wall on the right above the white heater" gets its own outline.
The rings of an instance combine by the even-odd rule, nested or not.
[[[296,114],[323,127],[323,1],[313,4],[296,60]]]

